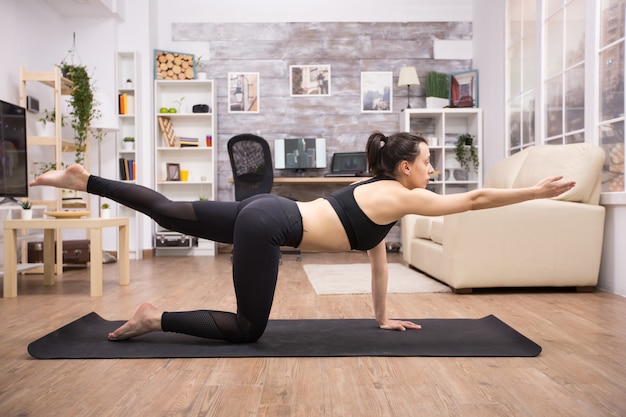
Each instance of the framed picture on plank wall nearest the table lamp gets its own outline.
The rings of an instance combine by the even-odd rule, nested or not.
[[[361,112],[391,113],[393,73],[365,71],[361,73]]]

